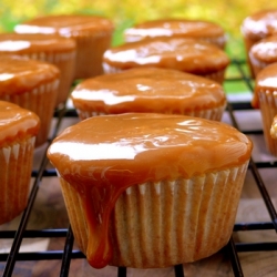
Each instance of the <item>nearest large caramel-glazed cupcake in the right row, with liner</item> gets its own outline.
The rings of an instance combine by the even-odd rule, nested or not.
[[[277,114],[277,63],[263,69],[256,76],[253,106],[260,109],[264,136],[270,154],[277,156],[277,141],[270,136],[274,116]]]

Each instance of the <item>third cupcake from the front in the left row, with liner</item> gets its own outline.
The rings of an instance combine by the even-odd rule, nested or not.
[[[60,70],[55,106],[68,100],[75,70],[75,41],[57,34],[0,33],[0,57],[21,55],[54,64]]]

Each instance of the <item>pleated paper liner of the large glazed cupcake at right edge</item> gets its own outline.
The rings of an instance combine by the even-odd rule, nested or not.
[[[277,140],[270,136],[273,120],[277,114],[277,91],[260,89],[258,99],[266,146],[270,154],[277,156]]]

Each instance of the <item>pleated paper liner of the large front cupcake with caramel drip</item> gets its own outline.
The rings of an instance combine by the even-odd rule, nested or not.
[[[129,187],[110,222],[111,265],[167,267],[194,261],[230,238],[248,162],[191,179]],[[86,254],[88,225],[79,192],[60,178],[73,234]]]

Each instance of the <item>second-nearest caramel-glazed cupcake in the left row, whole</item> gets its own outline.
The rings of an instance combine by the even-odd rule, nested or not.
[[[35,146],[48,140],[59,89],[59,69],[22,57],[1,57],[0,100],[34,112],[41,121]]]

